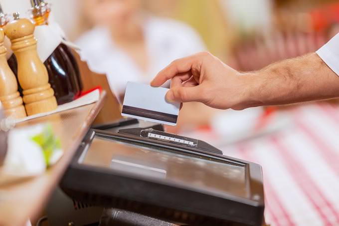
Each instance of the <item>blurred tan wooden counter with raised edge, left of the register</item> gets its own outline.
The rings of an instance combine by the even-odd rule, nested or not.
[[[43,210],[48,197],[59,182],[90,125],[103,105],[106,93],[98,102],[32,119],[16,127],[38,123],[51,123],[60,138],[64,155],[43,175],[12,184],[0,185],[0,226],[22,226],[30,218],[36,218]],[[29,150],[27,150],[29,152]],[[1,174],[0,174],[1,177]]]

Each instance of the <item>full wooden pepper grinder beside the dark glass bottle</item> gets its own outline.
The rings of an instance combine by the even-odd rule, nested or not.
[[[18,12],[14,12],[13,17],[14,20],[5,26],[5,34],[17,59],[17,77],[23,89],[27,115],[52,111],[57,103],[48,83],[46,67],[36,51],[35,26],[29,19],[20,19]]]

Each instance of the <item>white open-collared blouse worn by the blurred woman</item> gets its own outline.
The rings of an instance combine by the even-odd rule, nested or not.
[[[87,60],[94,72],[107,74],[116,95],[125,92],[128,81],[148,83],[174,59],[205,50],[199,35],[191,27],[172,19],[148,17],[144,32],[149,57],[146,73],[115,45],[105,27],[95,27],[77,41],[82,59]]]

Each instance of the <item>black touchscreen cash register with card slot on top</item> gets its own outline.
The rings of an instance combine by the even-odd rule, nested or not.
[[[60,187],[73,200],[184,225],[262,226],[258,164],[162,126],[91,129]],[[99,127],[100,128],[100,127]]]

